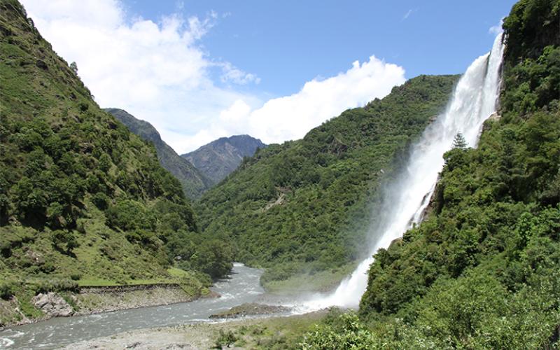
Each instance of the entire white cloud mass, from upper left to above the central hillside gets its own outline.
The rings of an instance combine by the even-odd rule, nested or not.
[[[237,89],[258,84],[258,76],[215,61],[201,48],[204,34],[229,14],[172,14],[154,22],[132,17],[119,0],[23,3],[59,55],[78,64],[78,74],[100,106],[126,109],[148,120],[178,153],[232,134],[251,134],[266,143],[299,139],[405,81],[402,68],[370,57],[337,76],[316,78],[295,94],[263,103],[246,87]],[[211,78],[216,68],[221,69],[220,81]]]

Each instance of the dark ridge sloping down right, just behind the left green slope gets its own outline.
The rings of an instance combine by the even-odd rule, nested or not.
[[[210,188],[212,181],[190,164],[190,162],[175,153],[173,148],[169,147],[162,140],[160,133],[158,130],[155,130],[153,125],[144,120],[134,118],[134,116],[122,109],[104,109],[104,111],[111,113],[120,120],[120,123],[126,125],[131,132],[137,134],[141,139],[153,143],[155,151],[158,153],[160,165],[179,180],[187,197],[198,198],[205,190]]]

